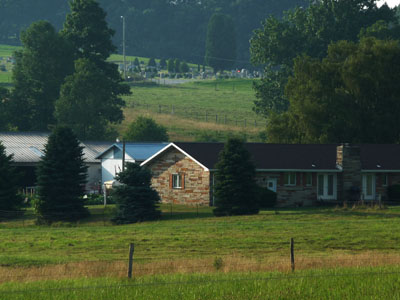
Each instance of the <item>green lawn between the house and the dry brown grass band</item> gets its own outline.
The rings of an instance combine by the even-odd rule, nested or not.
[[[43,265],[135,258],[199,259],[288,256],[290,238],[300,256],[333,257],[400,250],[400,209],[297,209],[262,211],[255,216],[216,218],[208,207],[163,206],[163,220],[110,225],[110,210],[91,208],[80,224],[36,226],[33,220],[0,223],[0,265]],[[180,211],[179,211],[180,210]]]

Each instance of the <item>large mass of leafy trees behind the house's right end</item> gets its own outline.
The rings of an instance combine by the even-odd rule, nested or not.
[[[279,143],[400,142],[400,26],[376,0],[320,0],[269,17],[251,40],[265,66],[254,110]]]

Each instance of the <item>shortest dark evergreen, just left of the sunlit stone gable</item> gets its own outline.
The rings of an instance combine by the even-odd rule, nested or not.
[[[157,210],[160,197],[150,186],[150,170],[127,163],[125,171],[119,173],[116,179],[122,185],[115,187],[112,192],[117,203],[113,222],[128,224],[160,218],[161,212]]]

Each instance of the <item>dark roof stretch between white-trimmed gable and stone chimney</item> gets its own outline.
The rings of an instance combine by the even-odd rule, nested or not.
[[[215,169],[223,143],[174,143],[209,169]],[[336,144],[246,143],[257,169],[337,170]]]

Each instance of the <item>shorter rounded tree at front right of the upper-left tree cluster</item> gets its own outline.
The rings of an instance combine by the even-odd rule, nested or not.
[[[61,87],[56,102],[57,120],[72,128],[80,139],[106,138],[109,125],[123,119],[125,102],[120,95],[127,93],[129,86],[110,80],[92,61],[78,59],[75,73]]]

